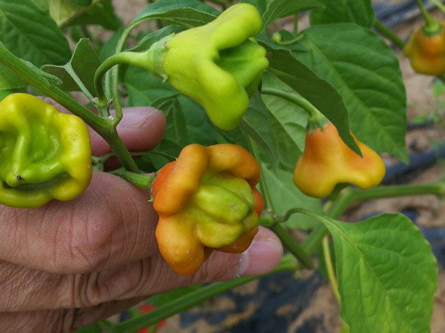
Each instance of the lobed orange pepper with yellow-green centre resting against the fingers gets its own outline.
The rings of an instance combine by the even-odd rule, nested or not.
[[[257,161],[232,144],[186,146],[152,184],[156,238],[179,274],[199,270],[212,250],[240,253],[258,230],[264,201]]]

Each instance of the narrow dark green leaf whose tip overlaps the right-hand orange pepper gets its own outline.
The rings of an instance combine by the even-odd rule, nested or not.
[[[349,133],[348,113],[339,92],[286,50],[274,50],[268,60],[269,72],[322,112],[338,129],[346,145],[358,153],[357,143]]]

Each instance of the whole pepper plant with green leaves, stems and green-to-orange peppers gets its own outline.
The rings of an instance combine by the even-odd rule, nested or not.
[[[355,201],[444,194],[443,181],[379,185],[379,154],[408,163],[406,92],[382,35],[399,48],[404,41],[375,19],[370,0],[149,1],[128,26],[110,0],[0,0],[0,9],[1,204],[37,207],[88,186],[80,118],[113,151],[92,157],[93,168],[115,156],[122,168],[112,174],[152,190],[159,248],[178,274],[197,272],[213,250],[246,250],[263,225],[288,250],[270,274],[315,270],[315,252],[325,256],[343,332],[428,332],[437,263],[416,225],[402,214],[340,221]],[[287,17],[293,28],[281,30]],[[156,28],[133,33],[147,21]],[[101,40],[92,25],[114,34]],[[442,23],[427,25],[404,51],[415,70],[444,74],[443,43],[431,51],[419,41],[442,38]],[[439,55],[425,56],[425,43]],[[422,70],[431,58],[422,68],[435,70]],[[30,94],[54,99],[75,115],[61,118],[76,120],[48,120],[54,110]],[[138,159],[116,131],[123,106],[135,105],[168,120],[159,147]],[[75,131],[75,139],[63,134]],[[297,243],[289,229],[306,239]],[[259,277],[182,290],[147,314],[85,330],[137,332]]]

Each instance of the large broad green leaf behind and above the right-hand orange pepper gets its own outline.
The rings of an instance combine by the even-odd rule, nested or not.
[[[298,43],[306,51],[293,54],[342,95],[357,139],[407,162],[406,92],[393,50],[374,32],[352,23],[314,26],[302,34]]]

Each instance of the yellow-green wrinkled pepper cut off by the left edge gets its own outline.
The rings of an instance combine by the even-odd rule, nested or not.
[[[37,208],[74,199],[92,176],[88,128],[30,94],[0,102],[0,203]]]

